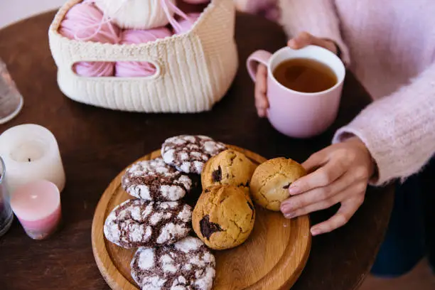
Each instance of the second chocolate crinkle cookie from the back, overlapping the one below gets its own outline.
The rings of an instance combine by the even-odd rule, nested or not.
[[[180,200],[191,187],[192,181],[185,173],[161,158],[136,162],[122,177],[122,188],[129,195],[144,200]]]

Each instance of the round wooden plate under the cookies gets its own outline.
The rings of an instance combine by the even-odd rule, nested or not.
[[[251,151],[241,151],[255,163],[266,161]],[[161,156],[154,151],[140,160]],[[130,275],[135,249],[123,249],[104,238],[103,225],[113,208],[130,196],[122,190],[119,173],[104,191],[92,222],[92,249],[107,284],[114,290],[137,290]],[[281,213],[257,207],[254,230],[248,240],[234,249],[215,251],[215,290],[289,289],[305,267],[311,247],[308,216],[286,220]]]

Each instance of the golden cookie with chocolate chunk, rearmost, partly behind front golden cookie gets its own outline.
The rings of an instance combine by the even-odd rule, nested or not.
[[[205,163],[201,183],[203,188],[227,184],[249,191],[249,181],[255,167],[245,154],[227,149]]]

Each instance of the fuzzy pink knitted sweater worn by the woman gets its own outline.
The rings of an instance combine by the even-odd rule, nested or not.
[[[277,2],[289,36],[308,31],[338,43],[375,100],[333,142],[363,140],[377,185],[421,170],[435,152],[435,1],[265,1]]]

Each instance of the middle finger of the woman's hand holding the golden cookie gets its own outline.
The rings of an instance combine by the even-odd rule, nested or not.
[[[355,177],[352,174],[346,173],[328,186],[314,188],[307,191],[306,193],[294,195],[287,200],[284,200],[281,203],[281,212],[286,215],[289,213],[293,213],[294,211],[299,209],[303,210],[304,208],[313,205],[314,203],[328,200],[333,195],[337,195],[338,193],[348,188],[354,182]],[[308,210],[308,213],[311,213],[311,211]]]

